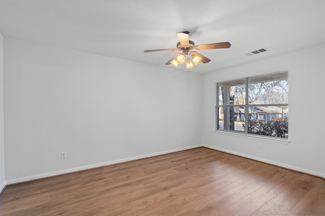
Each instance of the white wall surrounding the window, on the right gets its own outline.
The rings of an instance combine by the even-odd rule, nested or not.
[[[320,45],[205,74],[203,145],[325,177],[324,59]],[[289,71],[288,145],[262,141],[258,149],[261,140],[213,132],[215,82],[285,70]]]

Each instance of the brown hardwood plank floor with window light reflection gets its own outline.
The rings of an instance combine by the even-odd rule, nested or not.
[[[325,215],[325,181],[197,148],[8,186],[1,215]]]

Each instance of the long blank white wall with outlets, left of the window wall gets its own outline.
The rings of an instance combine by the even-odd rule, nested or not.
[[[10,38],[4,62],[7,184],[202,143],[200,74]]]

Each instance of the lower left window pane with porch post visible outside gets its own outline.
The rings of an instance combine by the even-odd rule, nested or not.
[[[245,132],[245,108],[244,106],[218,107],[218,130],[230,130]]]

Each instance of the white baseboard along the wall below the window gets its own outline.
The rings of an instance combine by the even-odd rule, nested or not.
[[[253,160],[256,160],[256,161],[261,161],[261,162],[273,164],[273,165],[276,165],[276,166],[280,166],[280,167],[283,167],[283,168],[287,168],[287,169],[291,169],[291,170],[295,170],[295,171],[299,171],[299,172],[303,172],[303,173],[307,173],[307,174],[311,174],[311,175],[315,175],[315,176],[325,178],[325,173],[315,172],[315,171],[312,171],[312,170],[309,170],[309,169],[304,169],[304,168],[301,168],[301,167],[296,167],[296,166],[291,166],[291,165],[288,165],[288,164],[278,163],[278,162],[275,162],[275,161],[270,161],[270,160],[266,160],[266,159],[263,159],[263,158],[253,157],[253,156],[250,156],[250,155],[245,155],[245,154],[241,154],[241,153],[238,153],[238,152],[233,152],[233,151],[229,151],[229,150],[225,150],[225,149],[220,149],[220,148],[216,148],[216,147],[213,147],[213,146],[208,146],[208,145],[202,145],[202,146],[206,147],[206,148],[209,148],[209,149],[217,150],[217,151],[220,151],[220,152],[226,152],[226,153],[230,153],[230,154],[233,154],[233,155],[242,156],[244,158],[249,158],[249,159],[253,159]]]

